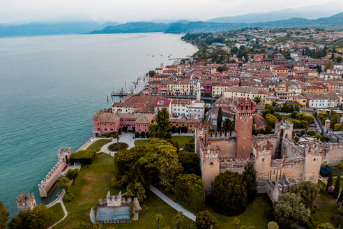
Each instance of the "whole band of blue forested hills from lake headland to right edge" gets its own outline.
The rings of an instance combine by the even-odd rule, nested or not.
[[[341,27],[343,26],[343,13],[330,17],[314,20],[305,18],[290,18],[273,22],[258,23],[215,23],[215,22],[189,22],[189,23],[153,23],[153,22],[130,22],[116,26],[105,27],[105,29],[92,31],[90,34],[121,34],[121,33],[144,33],[164,32],[167,34],[189,33],[189,32],[211,32],[227,31],[241,28],[294,28],[294,27]]]

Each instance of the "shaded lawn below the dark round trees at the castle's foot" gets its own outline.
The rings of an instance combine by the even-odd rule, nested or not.
[[[266,229],[268,224],[266,216],[268,209],[272,208],[272,203],[268,195],[258,195],[254,202],[247,205],[245,212],[231,217],[214,212],[210,206],[206,208],[218,220],[220,228],[235,229],[234,219],[238,218],[241,221],[239,226],[254,226],[256,229]]]

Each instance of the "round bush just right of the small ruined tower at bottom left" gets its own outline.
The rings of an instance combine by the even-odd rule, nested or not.
[[[31,220],[32,228],[45,229],[52,224],[54,212],[45,205],[38,205],[32,210]]]

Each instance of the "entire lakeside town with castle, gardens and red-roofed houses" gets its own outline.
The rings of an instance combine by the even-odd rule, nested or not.
[[[8,228],[340,228],[342,28],[182,39],[199,51],[113,95]]]

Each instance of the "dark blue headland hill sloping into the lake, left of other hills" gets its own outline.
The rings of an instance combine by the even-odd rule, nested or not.
[[[127,33],[153,33],[164,32],[169,24],[153,22],[129,22],[116,26],[105,27],[101,30],[92,31],[89,34],[127,34]]]

